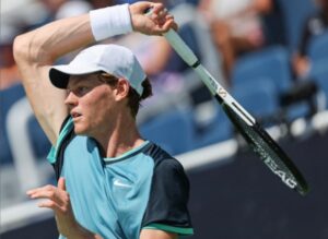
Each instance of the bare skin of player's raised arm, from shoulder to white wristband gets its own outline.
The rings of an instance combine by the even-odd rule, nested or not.
[[[52,144],[68,115],[66,91],[54,87],[49,68],[57,58],[93,41],[89,15],[61,20],[15,38],[14,57],[35,116]]]

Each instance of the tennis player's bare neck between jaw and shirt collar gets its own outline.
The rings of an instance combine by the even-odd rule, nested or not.
[[[121,115],[115,119],[112,129],[107,129],[95,140],[101,144],[103,157],[117,157],[144,142],[138,132],[136,120]]]

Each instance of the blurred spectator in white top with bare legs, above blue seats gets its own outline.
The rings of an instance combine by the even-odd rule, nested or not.
[[[223,56],[230,79],[236,58],[265,46],[261,15],[272,11],[272,0],[202,0],[201,9],[212,26],[213,39]]]

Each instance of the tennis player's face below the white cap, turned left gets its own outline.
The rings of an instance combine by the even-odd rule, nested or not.
[[[115,91],[101,81],[98,73],[70,77],[65,103],[73,118],[77,134],[96,138],[108,132],[113,116],[119,108]]]

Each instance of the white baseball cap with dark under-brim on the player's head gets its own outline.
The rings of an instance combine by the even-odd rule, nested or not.
[[[95,45],[82,50],[69,64],[50,68],[49,77],[58,88],[66,88],[70,75],[82,75],[104,71],[116,77],[124,77],[142,95],[142,82],[147,79],[136,56],[126,47]]]

